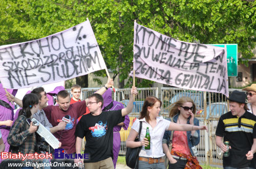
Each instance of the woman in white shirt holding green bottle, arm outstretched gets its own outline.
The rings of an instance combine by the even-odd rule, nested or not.
[[[191,131],[191,130],[205,130],[206,126],[194,126],[190,124],[177,124],[170,122],[163,117],[159,117],[160,107],[162,102],[156,97],[147,97],[142,106],[140,117],[137,119],[130,131],[126,140],[126,146],[135,148],[140,147],[139,153],[139,168],[165,168],[164,156],[162,148],[162,138],[165,130],[177,131]],[[142,122],[141,134],[139,135],[140,142],[135,142],[135,138],[139,133],[139,125]],[[145,138],[146,128],[150,130],[150,149],[145,149],[148,145],[147,138]]]

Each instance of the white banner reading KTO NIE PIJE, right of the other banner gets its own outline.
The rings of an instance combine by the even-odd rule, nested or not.
[[[133,50],[138,78],[228,96],[226,48],[182,42],[135,22]]]

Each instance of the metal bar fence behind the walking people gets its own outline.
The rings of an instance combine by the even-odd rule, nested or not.
[[[82,88],[81,99],[88,98],[89,95],[99,90],[99,88]],[[215,144],[215,132],[218,120],[222,114],[229,110],[227,98],[225,95],[213,92],[201,92],[184,90],[181,88],[161,88],[160,94],[158,88],[138,88],[139,94],[135,98],[133,111],[129,114],[130,125],[127,130],[121,129],[121,148],[119,154],[125,155],[125,141],[130,133],[131,126],[139,112],[142,109],[144,99],[147,96],[160,97],[162,101],[161,116],[167,117],[170,106],[180,97],[186,96],[194,100],[197,107],[196,118],[199,119],[200,125],[207,125],[208,132],[200,131],[200,143],[198,148],[198,159],[208,164],[222,165],[222,151]],[[229,89],[229,93],[237,89]],[[122,102],[125,106],[129,102],[131,89],[116,89],[112,98]]]

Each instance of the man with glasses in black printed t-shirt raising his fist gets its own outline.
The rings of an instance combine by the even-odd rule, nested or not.
[[[126,108],[116,111],[102,111],[103,98],[99,94],[89,96],[88,108],[90,114],[83,115],[76,126],[76,153],[80,154],[82,138],[86,137],[84,153],[90,159],[84,160],[85,168],[113,168],[113,128],[124,121],[124,116],[133,110],[134,95],[137,89],[132,88],[129,103]],[[77,163],[80,159],[75,159]],[[81,160],[83,162],[83,160]]]

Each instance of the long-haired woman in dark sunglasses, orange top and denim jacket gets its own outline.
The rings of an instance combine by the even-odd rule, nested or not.
[[[195,118],[196,105],[189,97],[181,97],[170,106],[169,117],[177,124],[190,124],[199,126],[199,120]],[[169,119],[170,120],[170,119]],[[169,151],[170,135],[173,132],[172,151]],[[165,131],[163,136],[163,150],[169,160],[170,168],[202,168],[195,156],[200,141],[199,130],[193,131]]]

